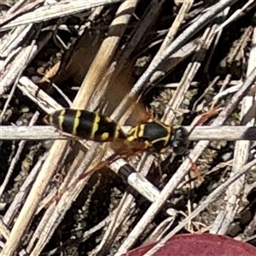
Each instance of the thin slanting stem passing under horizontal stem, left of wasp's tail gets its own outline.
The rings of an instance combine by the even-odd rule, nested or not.
[[[32,119],[31,119],[29,125],[32,126],[33,124],[35,124],[35,123],[37,122],[37,120],[38,120],[38,117],[39,117],[39,113],[36,112],[36,113],[33,115],[33,117],[32,117]],[[0,128],[0,131],[1,131],[1,128]],[[24,141],[24,140],[19,143],[19,146],[18,146],[17,152],[16,152],[16,154],[15,154],[15,157],[14,157],[13,160],[11,161],[11,163],[10,163],[10,165],[9,165],[9,170],[8,170],[6,176],[4,177],[3,183],[2,183],[2,185],[1,185],[1,187],[0,187],[0,198],[2,197],[3,191],[4,191],[4,189],[6,188],[6,186],[8,185],[8,183],[9,183],[9,179],[10,179],[11,175],[12,175],[13,172],[14,172],[16,163],[17,163],[17,161],[20,159],[20,154],[22,153],[23,148],[25,147],[25,145],[26,145],[26,141]]]

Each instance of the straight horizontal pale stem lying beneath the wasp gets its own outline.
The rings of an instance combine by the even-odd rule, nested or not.
[[[131,126],[124,126],[129,130]],[[243,126],[182,126],[190,132],[189,141],[239,141],[239,140],[256,140],[256,127]],[[0,140],[78,140],[61,133],[52,126],[1,126]],[[82,142],[82,141],[81,141]],[[89,143],[82,143],[86,146]]]

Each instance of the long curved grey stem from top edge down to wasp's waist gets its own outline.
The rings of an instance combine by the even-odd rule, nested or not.
[[[156,69],[166,60],[166,58],[172,55],[179,47],[181,47],[187,41],[189,41],[189,38],[191,38],[196,32],[198,32],[203,26],[206,26],[210,21],[212,21],[212,19],[214,19],[215,16],[218,15],[218,13],[220,13],[225,8],[231,6],[236,2],[237,0],[219,1],[218,3],[212,5],[211,9],[209,9],[206,13],[201,15],[197,22],[193,23],[186,30],[184,30],[183,33],[181,33],[176,38],[176,40],[174,40],[172,44],[168,46],[168,48],[163,52],[163,54],[160,55],[160,58],[157,61],[154,61],[150,64],[150,66],[143,73],[141,78],[138,79],[137,83],[133,86],[131,92],[127,96],[125,96],[125,99],[121,102],[119,108],[115,110],[115,112],[113,113],[114,116],[117,119],[120,118],[120,116],[124,113],[124,110],[122,109],[126,109],[126,105],[130,102],[130,99],[132,97],[137,96],[137,94],[139,94],[141,90],[145,90],[143,86],[147,85],[150,77],[153,75]]]

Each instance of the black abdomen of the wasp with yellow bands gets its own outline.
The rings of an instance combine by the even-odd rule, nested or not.
[[[125,139],[124,132],[112,119],[86,110],[64,108],[46,115],[44,122],[73,136],[98,143]]]

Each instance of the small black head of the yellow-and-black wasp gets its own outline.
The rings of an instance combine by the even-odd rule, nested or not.
[[[189,133],[183,127],[177,128],[173,133],[172,148],[175,154],[186,152],[189,144]]]

